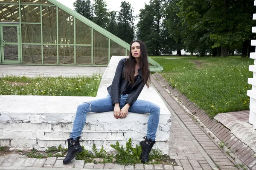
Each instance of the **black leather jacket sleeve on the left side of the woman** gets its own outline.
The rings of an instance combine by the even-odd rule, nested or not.
[[[119,103],[120,85],[122,79],[122,69],[125,65],[125,59],[121,59],[116,67],[116,73],[111,84],[112,104]]]

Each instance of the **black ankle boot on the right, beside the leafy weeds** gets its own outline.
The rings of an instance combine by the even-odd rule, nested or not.
[[[144,141],[140,142],[142,152],[141,152],[141,160],[143,163],[148,162],[149,153],[155,144],[155,141],[148,140],[147,136],[144,136]],[[148,143],[148,144],[147,144]]]

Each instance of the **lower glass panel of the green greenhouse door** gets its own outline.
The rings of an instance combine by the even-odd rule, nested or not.
[[[15,60],[19,59],[18,45],[4,45],[4,60]]]

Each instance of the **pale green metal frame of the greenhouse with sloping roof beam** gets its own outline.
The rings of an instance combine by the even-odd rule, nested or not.
[[[1,2],[0,4],[10,4],[10,5],[18,5],[19,9],[22,6],[40,6],[40,22],[41,23],[26,23],[26,22],[21,22],[21,10],[19,10],[19,24],[16,24],[16,26],[19,26],[20,28],[20,37],[19,37],[19,46],[20,46],[20,63],[23,63],[22,61],[22,45],[41,45],[41,55],[42,55],[42,62],[41,64],[29,64],[29,65],[44,65],[44,51],[43,51],[43,45],[57,45],[57,65],[59,65],[59,45],[74,45],[74,64],[72,65],[76,65],[76,47],[77,46],[91,46],[91,65],[90,66],[100,66],[100,65],[93,65],[93,30],[98,31],[100,34],[104,35],[105,37],[108,38],[108,62],[110,61],[110,50],[111,50],[111,40],[113,42],[116,42],[117,44],[119,44],[120,46],[122,46],[123,48],[125,48],[125,56],[129,55],[127,54],[127,51],[130,50],[130,45],[121,40],[120,38],[116,37],[115,35],[111,34],[110,32],[106,31],[104,28],[98,26],[97,24],[93,23],[92,21],[88,20],[87,18],[83,17],[81,14],[73,11],[72,9],[68,8],[67,6],[64,6],[62,3],[59,3],[57,0],[48,0],[49,3],[52,4],[42,4],[42,3],[25,3],[25,2],[20,2],[20,0],[17,2]],[[43,43],[43,16],[42,16],[42,6],[56,6],[56,27],[57,27],[57,42],[56,44],[46,44]],[[63,10],[64,12],[70,14],[71,16],[73,16],[74,19],[74,44],[59,44],[59,37],[58,37],[58,9]],[[76,45],[76,19],[80,20],[81,22],[87,24],[87,26],[91,27],[91,44],[79,44]],[[41,43],[22,43],[21,42],[21,24],[38,24],[41,26]],[[15,24],[9,23],[9,25],[15,26]],[[2,57],[1,57],[2,58]],[[150,66],[150,71],[163,71],[163,67],[161,65],[159,65],[157,62],[155,62],[153,59],[148,57],[148,62],[151,63]],[[0,61],[1,63],[1,61]],[[4,63],[3,63],[4,64]],[[12,64],[10,62],[10,64]],[[26,64],[25,64],[26,65]],[[47,65],[54,65],[54,64],[47,64]],[[103,65],[105,66],[105,65]]]

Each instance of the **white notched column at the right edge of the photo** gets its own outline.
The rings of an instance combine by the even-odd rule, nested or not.
[[[254,6],[256,6],[256,0]],[[256,14],[253,14],[253,20],[256,20]],[[252,28],[252,32],[256,33],[256,27]],[[256,40],[252,40],[251,45],[256,46]],[[256,53],[250,53],[250,58],[254,59],[254,65],[249,66],[249,71],[253,72],[253,78],[248,79],[248,83],[252,85],[252,90],[247,91],[247,95],[250,96],[249,122],[256,128]]]

